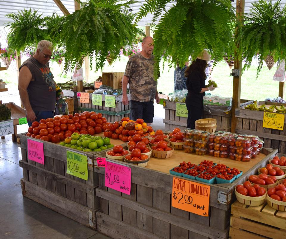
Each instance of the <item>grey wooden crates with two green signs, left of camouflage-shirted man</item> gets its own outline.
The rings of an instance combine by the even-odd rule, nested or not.
[[[130,101],[130,95],[128,94]],[[77,97],[78,113],[83,111],[95,111],[101,113],[102,117],[106,118],[107,122],[120,121],[122,117],[130,117],[130,102],[128,105],[122,103],[122,95],[115,96],[115,108],[105,107],[105,95],[102,95],[102,106],[92,104],[92,93],[89,93],[89,104],[80,103],[80,96]]]

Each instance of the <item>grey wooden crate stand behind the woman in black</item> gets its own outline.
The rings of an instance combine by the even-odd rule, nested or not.
[[[187,127],[187,118],[176,116],[176,102],[165,101],[165,130],[172,131],[174,128],[185,129]],[[164,105],[164,104],[163,104]],[[216,131],[230,131],[231,129],[231,114],[210,114],[207,111],[204,111],[203,118],[214,118],[217,120],[217,129]]]

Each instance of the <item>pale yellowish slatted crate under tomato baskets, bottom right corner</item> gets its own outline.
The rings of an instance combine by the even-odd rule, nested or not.
[[[235,201],[231,205],[229,236],[231,239],[286,238],[286,212],[267,205],[247,206]]]

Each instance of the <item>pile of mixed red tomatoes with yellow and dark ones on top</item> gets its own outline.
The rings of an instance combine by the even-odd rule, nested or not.
[[[132,140],[132,136],[135,134],[147,136],[150,132],[153,132],[153,128],[147,126],[143,119],[133,121],[129,117],[123,117],[121,121],[110,123],[108,128],[104,130],[104,136],[128,142]]]

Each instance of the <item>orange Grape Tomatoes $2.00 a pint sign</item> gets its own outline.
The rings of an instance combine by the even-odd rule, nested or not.
[[[173,177],[172,207],[209,216],[210,186]]]

